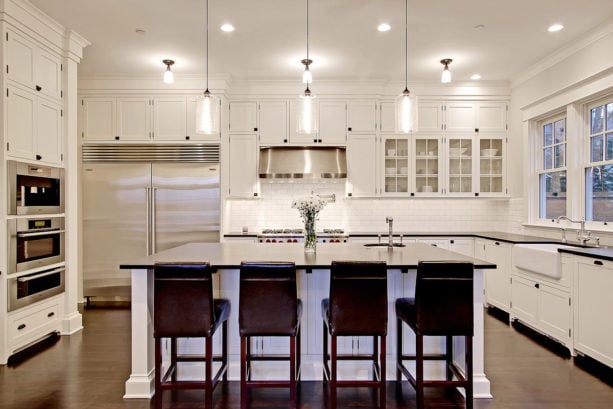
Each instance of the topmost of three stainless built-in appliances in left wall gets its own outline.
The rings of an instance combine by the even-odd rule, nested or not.
[[[7,161],[8,214],[64,213],[64,169]]]

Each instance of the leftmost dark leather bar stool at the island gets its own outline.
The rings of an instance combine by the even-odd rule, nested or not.
[[[230,302],[213,298],[212,269],[208,263],[155,264],[153,296],[153,336],[155,338],[155,403],[162,406],[165,389],[204,389],[205,408],[213,407],[213,389],[220,377],[227,381],[228,316]],[[213,335],[222,326],[222,353],[213,356]],[[205,339],[204,356],[179,355],[177,338]],[[170,366],[162,373],[164,338],[170,338]],[[177,380],[177,363],[205,362],[203,381]],[[212,376],[213,361],[221,367]]]

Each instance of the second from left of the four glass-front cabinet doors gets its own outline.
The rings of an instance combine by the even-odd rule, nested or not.
[[[416,196],[438,195],[442,192],[441,137],[416,136],[414,139],[415,175],[413,192]]]

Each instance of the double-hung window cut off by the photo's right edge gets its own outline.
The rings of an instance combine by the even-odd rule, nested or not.
[[[585,219],[613,220],[613,98],[588,106]]]

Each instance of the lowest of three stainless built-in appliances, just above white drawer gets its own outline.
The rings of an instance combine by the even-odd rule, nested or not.
[[[63,266],[8,279],[9,305],[13,311],[64,292]]]

